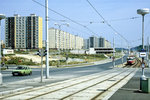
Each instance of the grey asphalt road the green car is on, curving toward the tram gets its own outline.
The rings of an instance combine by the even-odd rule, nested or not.
[[[124,56],[124,61],[126,61],[126,58],[127,56]],[[121,64],[122,63],[121,59],[116,60],[115,63],[116,65]],[[62,78],[62,80],[66,80],[66,79],[71,79],[75,77],[106,71],[109,69],[112,69],[112,62],[100,64],[100,65],[90,65],[86,67],[50,68],[50,77],[61,76],[64,77]],[[32,75],[28,75],[28,76],[12,76],[11,74],[12,71],[2,71],[3,83],[16,82],[20,80],[40,77],[40,70],[41,70],[40,68],[34,68],[32,69],[33,71]]]

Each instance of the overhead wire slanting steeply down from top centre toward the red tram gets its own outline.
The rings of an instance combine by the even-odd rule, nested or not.
[[[90,1],[89,0],[86,1],[93,8],[93,10],[104,20],[104,23],[106,23],[115,33],[117,33],[121,38],[123,38],[128,44],[129,43],[128,40],[122,34],[120,34],[115,28],[113,28],[111,24],[108,23],[108,21],[97,11],[97,9],[90,3]]]

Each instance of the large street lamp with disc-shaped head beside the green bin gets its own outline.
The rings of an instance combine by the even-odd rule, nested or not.
[[[148,8],[138,9],[137,14],[142,15],[142,49],[144,50],[144,16],[149,13]],[[142,89],[142,80],[145,80],[146,77],[144,75],[144,57],[142,57],[142,76],[140,77],[140,89]]]

